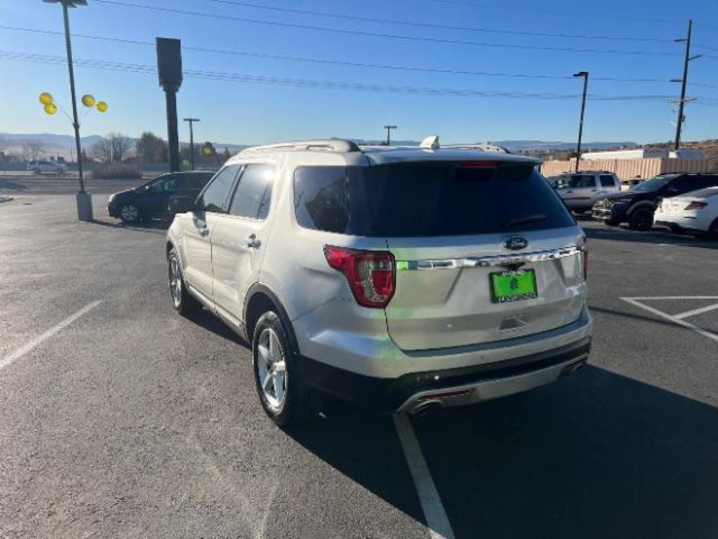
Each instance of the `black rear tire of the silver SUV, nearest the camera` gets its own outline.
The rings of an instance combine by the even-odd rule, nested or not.
[[[284,363],[284,379],[279,384],[282,387],[281,392],[283,394],[281,402],[276,400],[277,379],[272,377],[271,370],[264,369],[264,372],[266,372],[264,380],[261,377],[263,372],[262,365],[268,363],[263,355],[268,350],[261,342],[267,335],[271,338],[272,334],[279,341],[279,351],[281,353],[281,360],[279,361]],[[265,352],[260,350],[261,347],[265,349]],[[279,356],[274,357],[275,363],[278,358]],[[252,337],[254,383],[264,412],[281,428],[317,418],[320,407],[321,397],[316,390],[304,384],[299,373],[297,361],[299,361],[299,352],[292,344],[292,339],[289,338],[287,328],[279,315],[271,310],[261,315],[256,326],[254,326]],[[273,384],[272,389],[265,391],[265,384],[269,385],[270,382]],[[274,395],[269,395],[270,393]]]

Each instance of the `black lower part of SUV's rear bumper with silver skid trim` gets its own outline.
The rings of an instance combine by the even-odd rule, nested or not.
[[[424,405],[460,406],[513,395],[554,382],[584,365],[591,338],[558,349],[457,369],[404,374],[396,379],[356,374],[302,356],[302,379],[375,410],[413,412]]]

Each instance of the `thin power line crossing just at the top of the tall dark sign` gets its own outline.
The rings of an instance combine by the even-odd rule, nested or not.
[[[24,28],[24,27],[10,27],[0,25],[0,29],[14,30],[18,32],[37,32],[41,34],[57,34],[62,35],[62,32],[55,30],[37,29],[37,28]],[[141,40],[126,40],[117,37],[98,36],[90,34],[73,34],[73,37],[79,37],[89,40],[101,40],[110,42],[129,43],[133,45],[147,45],[154,47],[154,42],[141,41]],[[540,73],[497,73],[489,71],[470,71],[470,70],[454,70],[447,68],[430,68],[421,67],[414,65],[390,65],[390,64],[373,64],[363,62],[349,62],[345,60],[329,60],[326,58],[317,57],[306,57],[306,56],[293,56],[293,55],[275,55],[264,52],[247,52],[240,50],[225,50],[215,49],[208,47],[192,47],[188,45],[182,45],[185,50],[192,50],[195,52],[209,52],[215,54],[224,55],[238,55],[245,57],[258,57],[266,60],[287,60],[292,62],[306,62],[306,63],[321,63],[330,65],[345,65],[353,68],[373,68],[373,69],[387,69],[387,70],[402,70],[402,71],[418,71],[423,73],[445,73],[452,75],[474,75],[482,77],[501,77],[501,78],[533,78],[533,79],[546,79],[546,80],[572,80],[570,75],[551,75],[551,74],[540,74]],[[605,80],[611,82],[627,82],[627,83],[671,83],[668,79],[661,78],[620,78],[620,77],[594,77],[594,80]]]

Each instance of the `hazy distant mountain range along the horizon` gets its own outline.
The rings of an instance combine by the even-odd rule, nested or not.
[[[28,134],[17,134],[17,133],[0,133],[0,139],[6,139],[14,147],[22,146],[25,142],[36,141],[47,146],[47,150],[62,151],[75,148],[75,137],[70,135],[61,135],[54,133],[28,133]],[[82,137],[83,148],[88,148],[99,142],[103,137],[99,135],[90,135],[89,137]],[[368,139],[352,139],[358,144],[383,144],[383,140],[368,140]],[[200,142],[200,141],[198,141]],[[204,142],[201,141],[200,144]],[[189,142],[180,142],[180,145],[186,146]],[[227,147],[230,152],[236,153],[246,148],[248,144],[225,144],[223,142],[213,142],[218,152],[221,152]],[[416,140],[393,140],[392,145],[396,146],[419,146],[419,141]],[[506,149],[516,151],[567,151],[572,150],[576,147],[576,142],[546,142],[543,140],[493,140],[491,144],[496,144]],[[584,142],[584,149],[607,149],[607,148],[635,148],[638,144],[635,142]]]

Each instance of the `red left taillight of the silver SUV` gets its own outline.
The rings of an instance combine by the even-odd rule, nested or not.
[[[324,255],[347,278],[359,305],[383,308],[391,301],[396,275],[393,254],[325,245]]]

